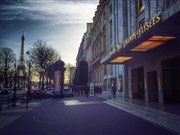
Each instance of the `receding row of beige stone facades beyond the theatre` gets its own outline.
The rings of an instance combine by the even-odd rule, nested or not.
[[[88,63],[88,85],[94,83],[96,88],[105,92],[107,92],[105,78],[110,66],[101,64],[101,58],[106,56],[108,48],[107,18],[107,1],[100,0],[93,23],[87,23],[87,31],[82,38],[76,59],[76,66],[82,60]]]

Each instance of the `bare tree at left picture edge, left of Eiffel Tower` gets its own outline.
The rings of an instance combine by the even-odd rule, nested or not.
[[[1,76],[4,78],[2,83],[4,83],[5,87],[8,87],[8,77],[12,74],[11,69],[15,61],[16,57],[12,49],[8,47],[0,48]]]

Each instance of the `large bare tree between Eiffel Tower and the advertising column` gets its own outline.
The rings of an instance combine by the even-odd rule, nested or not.
[[[30,49],[29,57],[32,62],[32,68],[35,73],[38,73],[40,83],[46,81],[50,82],[51,76],[49,76],[49,68],[58,60],[60,55],[52,48],[47,42],[37,40],[33,48]]]

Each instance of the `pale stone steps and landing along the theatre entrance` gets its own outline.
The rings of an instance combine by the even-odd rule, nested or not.
[[[130,98],[111,98],[108,99],[105,95],[98,95],[107,99],[105,103],[116,108],[122,109],[126,112],[134,114],[138,117],[146,119],[150,122],[156,123],[162,127],[172,130],[180,134],[180,105],[146,103],[141,99]]]

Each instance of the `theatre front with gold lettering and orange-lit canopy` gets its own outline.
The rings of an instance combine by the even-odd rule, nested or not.
[[[180,1],[110,0],[108,10],[119,21],[110,20],[112,46],[101,63],[124,65],[124,96],[180,102]]]

